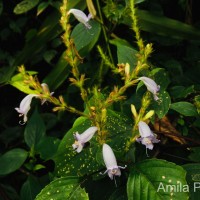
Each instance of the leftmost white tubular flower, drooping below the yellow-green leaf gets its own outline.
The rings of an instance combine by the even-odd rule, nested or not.
[[[27,114],[28,114],[28,111],[30,110],[31,108],[31,101],[32,101],[32,98],[33,97],[36,97],[38,96],[37,94],[29,94],[27,95],[24,99],[22,99],[20,105],[19,105],[19,108],[15,108],[15,110],[20,113],[19,116],[24,116],[24,119],[23,119],[23,123],[20,122],[20,124],[25,124],[28,120],[28,117],[27,117]]]

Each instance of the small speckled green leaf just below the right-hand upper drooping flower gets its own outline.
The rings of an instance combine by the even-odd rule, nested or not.
[[[171,98],[168,92],[162,91],[162,90],[159,92],[158,97],[159,97],[159,100],[153,101],[152,107],[155,110],[158,117],[161,119],[167,114],[170,108]]]

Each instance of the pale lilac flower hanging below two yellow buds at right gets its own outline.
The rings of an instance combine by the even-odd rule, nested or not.
[[[141,142],[143,145],[145,145],[146,149],[152,150],[153,143],[158,143],[160,140],[156,139],[156,136],[145,122],[140,121],[138,123],[138,127],[141,137],[137,139],[137,142]]]

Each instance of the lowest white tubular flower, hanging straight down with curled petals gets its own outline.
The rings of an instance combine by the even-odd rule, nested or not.
[[[117,161],[113,150],[107,144],[103,144],[103,160],[106,165],[107,170],[103,173],[108,173],[108,176],[111,180],[113,180],[113,176],[121,176],[121,169],[125,169],[125,167],[121,167],[117,165]]]

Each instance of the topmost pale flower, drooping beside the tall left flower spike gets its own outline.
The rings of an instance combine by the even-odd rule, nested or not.
[[[81,22],[82,24],[84,24],[88,29],[91,29],[92,27],[90,26],[90,24],[88,23],[89,20],[91,19],[92,15],[89,14],[88,16],[81,10],[78,10],[78,9],[70,9],[68,11],[68,14],[73,14],[74,17],[79,21]]]

